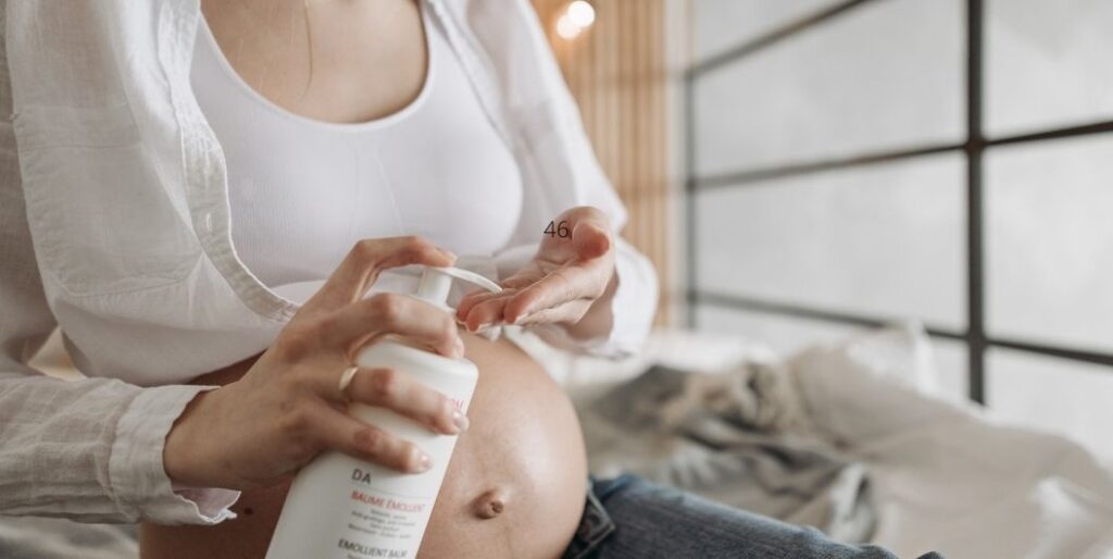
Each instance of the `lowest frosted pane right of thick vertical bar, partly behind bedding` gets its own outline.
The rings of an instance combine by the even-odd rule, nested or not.
[[[987,360],[986,396],[995,414],[1113,458],[1113,367],[998,349]]]

